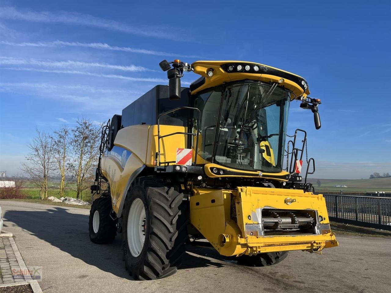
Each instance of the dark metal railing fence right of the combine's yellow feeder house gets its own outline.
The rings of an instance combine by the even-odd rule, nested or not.
[[[330,220],[391,231],[391,197],[323,196]]]

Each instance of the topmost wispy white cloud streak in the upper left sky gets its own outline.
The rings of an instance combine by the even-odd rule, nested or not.
[[[162,31],[155,27],[133,27],[126,23],[120,23],[114,20],[99,18],[90,14],[67,12],[67,11],[41,11],[36,12],[32,10],[18,10],[15,7],[4,6],[0,7],[0,18],[11,20],[25,20],[41,23],[62,23],[66,25],[84,25],[87,27],[97,27],[101,29],[113,30],[117,32],[124,32],[126,34],[136,34],[141,36],[174,39],[177,34],[171,34]]]

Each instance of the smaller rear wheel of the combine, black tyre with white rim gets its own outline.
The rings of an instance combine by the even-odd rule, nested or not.
[[[99,197],[93,201],[90,210],[89,232],[93,243],[111,243],[117,234],[117,220],[110,217],[111,197]]]

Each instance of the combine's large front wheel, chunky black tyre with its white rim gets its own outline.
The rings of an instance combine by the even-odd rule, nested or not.
[[[156,177],[132,184],[122,212],[122,245],[129,274],[136,280],[167,277],[185,253],[187,213],[183,193]]]

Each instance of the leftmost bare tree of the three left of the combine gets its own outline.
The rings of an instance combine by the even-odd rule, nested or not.
[[[47,198],[48,179],[54,170],[53,139],[46,132],[36,129],[37,136],[28,145],[27,162],[22,163],[22,170],[26,172],[34,185],[40,188],[41,198]]]

